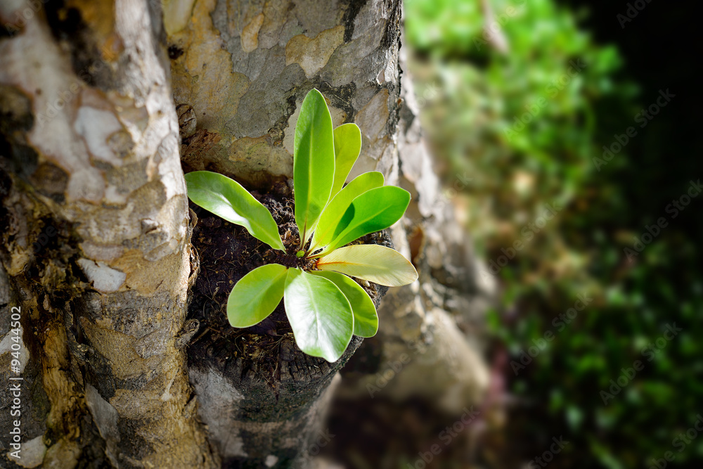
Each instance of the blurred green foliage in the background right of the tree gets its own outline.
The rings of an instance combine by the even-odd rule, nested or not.
[[[681,452],[675,440],[703,411],[702,259],[688,232],[699,200],[666,212],[697,177],[681,174],[666,193],[633,189],[662,170],[638,167],[641,143],[597,168],[602,146],[637,126],[656,94],[638,94],[617,48],[596,44],[555,1],[486,3],[492,14],[479,0],[406,0],[406,42],[447,195],[465,208],[481,274],[503,290],[489,323],[510,352],[511,391],[530,403],[512,413],[510,437],[531,444],[529,460],[569,435],[553,467],[649,467],[666,451],[673,465],[699,461],[703,438]],[[665,119],[633,139],[657,137]],[[540,219],[546,204],[552,219]],[[628,259],[624,248],[659,217],[668,226]],[[582,311],[579,295],[593,299]],[[683,330],[662,339],[674,323]],[[538,353],[520,366],[529,347]],[[601,391],[636,361],[642,369],[604,403]]]

